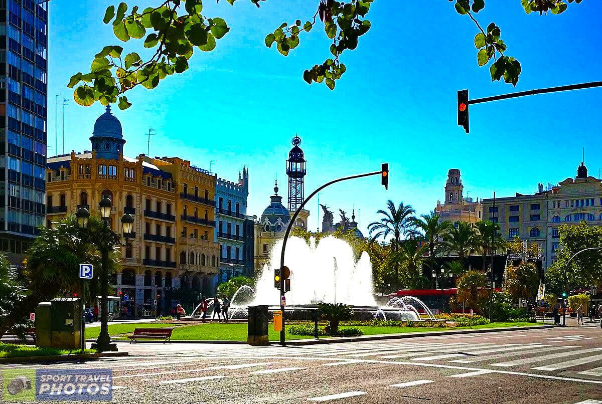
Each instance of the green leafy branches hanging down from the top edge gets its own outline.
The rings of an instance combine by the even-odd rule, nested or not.
[[[113,25],[117,39],[142,40],[142,48],[154,51],[149,57],[140,56],[140,43],[131,52],[124,52],[117,44],[107,45],[93,58],[90,72],[78,72],[70,78],[68,87],[74,88],[73,99],[79,105],[90,106],[96,101],[103,105],[118,103],[120,109],[131,106],[125,96],[132,88],[142,85],[155,88],[167,76],[188,70],[188,63],[195,49],[213,51],[216,41],[226,35],[230,28],[221,17],[203,14],[202,0],[154,0],[151,7],[141,9],[120,2],[105,11],[103,22]],[[216,0],[219,1],[219,0]],[[228,0],[234,5],[236,0]],[[250,0],[257,7],[265,0]],[[518,1],[518,0],[515,0]],[[560,14],[568,4],[582,0],[521,0],[524,11],[539,15]],[[332,40],[329,51],[331,58],[309,67],[303,72],[308,83],[324,82],[334,90],[335,82],[346,72],[340,61],[343,52],[356,49],[359,37],[371,28],[367,14],[374,0],[315,0],[316,11],[312,16],[283,22],[265,37],[265,46],[275,48],[284,56],[300,44],[315,25],[323,28],[323,34]],[[507,54],[507,44],[501,40],[501,29],[494,22],[485,28],[477,20],[479,11],[485,8],[485,0],[449,0],[456,13],[466,16],[476,26],[474,46],[479,66],[489,65],[492,81],[517,85],[521,74],[520,62]],[[387,3],[383,3],[387,4]],[[391,3],[392,4],[392,3]],[[379,3],[380,5],[380,3]],[[451,7],[450,7],[451,9]],[[100,16],[99,16],[100,17]],[[318,19],[320,22],[318,23]],[[400,33],[401,34],[401,33]]]

